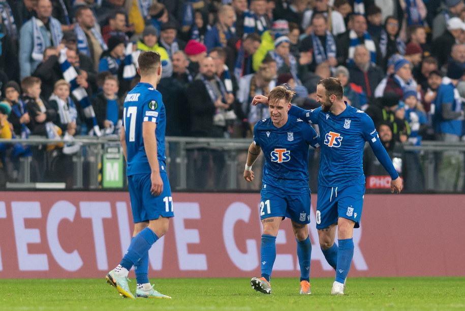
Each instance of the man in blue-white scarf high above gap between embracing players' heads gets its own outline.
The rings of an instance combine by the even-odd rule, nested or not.
[[[307,70],[314,71],[315,67],[321,63],[327,63],[331,68],[337,66],[336,40],[328,30],[326,17],[317,13],[313,15],[312,32],[302,40],[301,50],[313,51]]]

